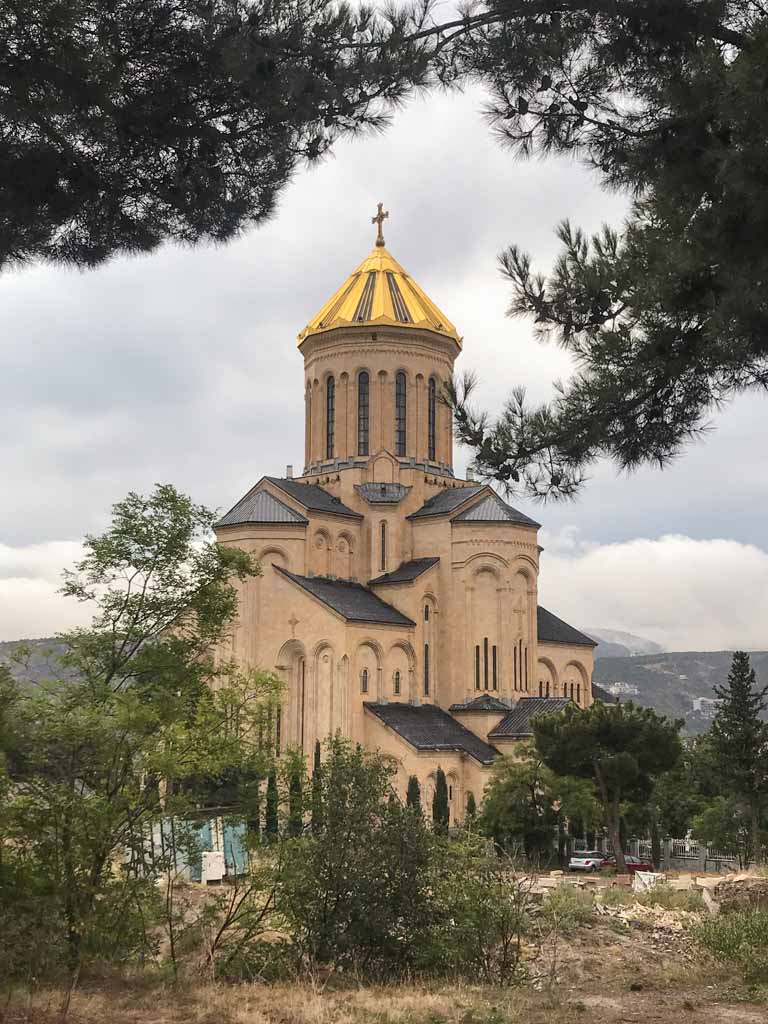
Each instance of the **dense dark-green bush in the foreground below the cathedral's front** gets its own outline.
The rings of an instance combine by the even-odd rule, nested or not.
[[[389,759],[329,741],[323,826],[281,850],[278,906],[299,959],[381,977],[416,965],[436,840],[389,800],[394,773]]]

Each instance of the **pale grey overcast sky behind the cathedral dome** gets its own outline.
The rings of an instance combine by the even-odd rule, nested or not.
[[[514,161],[481,103],[414,102],[227,247],[0,276],[0,640],[81,621],[58,574],[128,490],[169,481],[226,509],[300,469],[296,334],[371,249],[379,200],[389,250],[464,335],[457,369],[478,373],[480,402],[520,384],[545,398],[567,376],[563,352],[506,318],[497,255],[515,242],[546,270],[559,220],[620,224],[626,200],[571,162]],[[664,472],[604,465],[575,503],[515,502],[545,524],[543,603],[670,649],[768,648],[767,431],[768,398],[748,395]]]

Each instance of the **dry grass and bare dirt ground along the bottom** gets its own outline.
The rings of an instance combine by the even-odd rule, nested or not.
[[[637,904],[596,911],[545,951],[536,983],[514,988],[213,985],[194,972],[169,985],[145,972],[83,979],[66,1018],[62,992],[15,992],[0,1024],[768,1024],[768,989],[703,957],[691,920]]]

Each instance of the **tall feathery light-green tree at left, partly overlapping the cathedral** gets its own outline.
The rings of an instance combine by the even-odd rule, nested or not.
[[[234,585],[258,568],[210,542],[213,519],[167,485],[118,503],[66,574],[92,625],[60,638],[60,678],[14,697],[0,870],[32,890],[45,880],[47,927],[73,972],[145,943],[140,919],[163,870],[147,829],[193,806],[184,780],[258,772],[268,759],[257,723],[278,681],[215,656]]]

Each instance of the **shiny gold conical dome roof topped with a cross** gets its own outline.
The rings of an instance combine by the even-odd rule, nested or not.
[[[310,335],[365,325],[432,331],[461,345],[447,316],[387,251],[381,230],[387,216],[379,204],[379,214],[373,218],[379,225],[376,247],[309,321],[299,334],[299,344]]]

